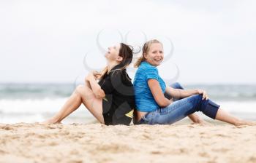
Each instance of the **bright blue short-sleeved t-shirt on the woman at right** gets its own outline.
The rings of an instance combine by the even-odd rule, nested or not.
[[[148,79],[156,79],[159,81],[162,92],[165,93],[165,81],[158,74],[157,67],[147,63],[140,63],[138,70],[135,73],[133,87],[135,90],[135,104],[138,111],[156,111],[160,106],[154,100],[154,96],[148,87]]]

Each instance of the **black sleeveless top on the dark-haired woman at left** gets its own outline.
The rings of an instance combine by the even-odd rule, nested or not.
[[[106,125],[126,124],[132,121],[132,109],[135,108],[135,95],[132,81],[122,65],[114,66],[105,73],[98,84],[105,92],[102,100],[103,117]]]

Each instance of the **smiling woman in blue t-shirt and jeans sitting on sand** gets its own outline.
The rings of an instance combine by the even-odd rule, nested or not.
[[[133,82],[137,108],[135,124],[172,124],[186,116],[195,123],[203,123],[195,114],[196,111],[234,125],[255,124],[227,114],[217,103],[208,99],[205,90],[183,90],[178,83],[165,85],[157,69],[163,59],[161,42],[154,39],[144,44],[143,56],[135,63],[135,67],[138,67]]]

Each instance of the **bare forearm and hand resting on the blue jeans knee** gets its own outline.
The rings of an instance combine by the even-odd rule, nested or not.
[[[203,94],[203,99],[208,100],[205,90],[181,90],[167,86],[165,92],[173,98],[187,98],[192,95]]]

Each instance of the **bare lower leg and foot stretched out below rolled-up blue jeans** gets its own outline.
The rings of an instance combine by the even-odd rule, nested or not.
[[[245,120],[242,120],[242,119],[238,119],[235,116],[231,116],[230,114],[227,114],[227,112],[224,111],[222,108],[218,109],[215,119],[217,119],[219,121],[222,121],[222,122],[227,122],[227,123],[230,123],[230,124],[234,124],[236,126],[255,125],[255,122],[245,121]]]

